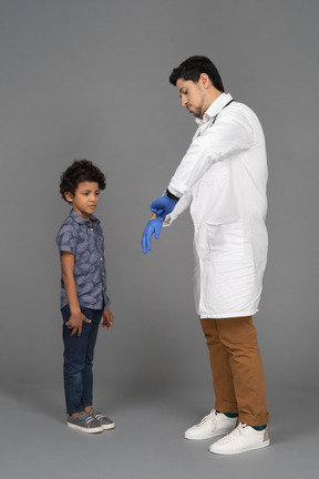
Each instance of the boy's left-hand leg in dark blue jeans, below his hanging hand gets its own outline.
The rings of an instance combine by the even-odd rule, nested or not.
[[[82,334],[71,336],[71,330],[65,326],[70,318],[70,307],[61,310],[63,317],[63,343],[64,343],[64,393],[66,411],[69,415],[83,411],[83,370],[85,367],[85,350],[89,340],[90,324],[83,323]]]

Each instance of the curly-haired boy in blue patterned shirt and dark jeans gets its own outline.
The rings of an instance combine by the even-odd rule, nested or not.
[[[104,188],[105,176],[92,162],[74,161],[61,176],[60,193],[72,210],[56,235],[62,268],[66,425],[91,434],[115,427],[92,407],[92,366],[101,317],[102,327],[113,326],[106,295],[104,237],[93,215]]]

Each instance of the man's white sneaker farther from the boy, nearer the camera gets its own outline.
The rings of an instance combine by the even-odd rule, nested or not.
[[[254,449],[260,449],[269,446],[270,440],[268,429],[258,431],[251,426],[239,422],[228,436],[217,440],[209,447],[209,451],[220,455],[234,455],[246,452]]]

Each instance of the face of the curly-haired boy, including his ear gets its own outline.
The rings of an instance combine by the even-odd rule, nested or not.
[[[90,220],[90,214],[94,213],[99,203],[99,183],[81,182],[78,184],[74,195],[65,193],[65,198],[72,203],[73,210],[85,220]]]

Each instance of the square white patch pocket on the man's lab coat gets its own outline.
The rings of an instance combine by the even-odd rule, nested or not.
[[[243,258],[244,234],[240,222],[206,223],[209,254],[215,262]]]

